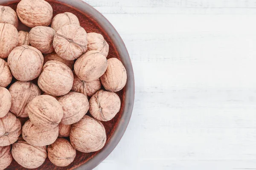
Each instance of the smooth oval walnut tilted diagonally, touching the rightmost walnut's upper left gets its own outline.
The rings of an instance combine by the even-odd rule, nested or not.
[[[79,79],[92,82],[99,79],[108,68],[108,60],[99,51],[87,51],[76,60],[74,70]]]

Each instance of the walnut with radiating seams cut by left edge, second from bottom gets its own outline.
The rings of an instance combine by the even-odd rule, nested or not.
[[[11,112],[0,118],[0,146],[8,146],[17,141],[21,132],[21,123]]]

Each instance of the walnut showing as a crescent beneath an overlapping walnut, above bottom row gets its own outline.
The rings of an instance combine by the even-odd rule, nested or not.
[[[58,138],[58,127],[50,130],[36,127],[28,120],[22,127],[23,139],[33,146],[46,146],[55,142]]]

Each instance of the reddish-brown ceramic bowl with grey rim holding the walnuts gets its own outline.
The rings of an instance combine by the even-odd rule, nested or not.
[[[1,0],[0,5],[10,6],[15,11],[17,3],[20,0]],[[116,147],[123,134],[125,133],[126,127],[128,126],[131,118],[131,113],[134,104],[134,73],[131,65],[131,60],[128,54],[125,44],[121,37],[115,30],[115,28],[109,23],[109,21],[96,9],[82,0],[47,0],[52,8],[53,15],[64,12],[72,12],[75,14],[80,21],[81,26],[88,32],[97,32],[105,37],[105,40],[109,44],[108,58],[116,57],[124,64],[128,79],[125,88],[118,92],[121,99],[121,110],[120,112],[108,122],[102,122],[105,126],[107,133],[107,142],[102,150],[93,153],[81,153],[77,151],[76,159],[67,167],[56,167],[52,164],[49,159],[46,159],[44,164],[38,169],[41,170],[91,170],[102,162]],[[20,23],[19,31],[29,31],[29,28]],[[7,168],[8,170],[25,170],[17,164],[16,161],[12,161],[12,164]]]

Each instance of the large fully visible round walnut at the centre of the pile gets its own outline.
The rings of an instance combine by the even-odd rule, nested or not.
[[[70,92],[74,76],[70,68],[59,61],[48,61],[38,78],[42,91],[54,96],[63,96]]]

